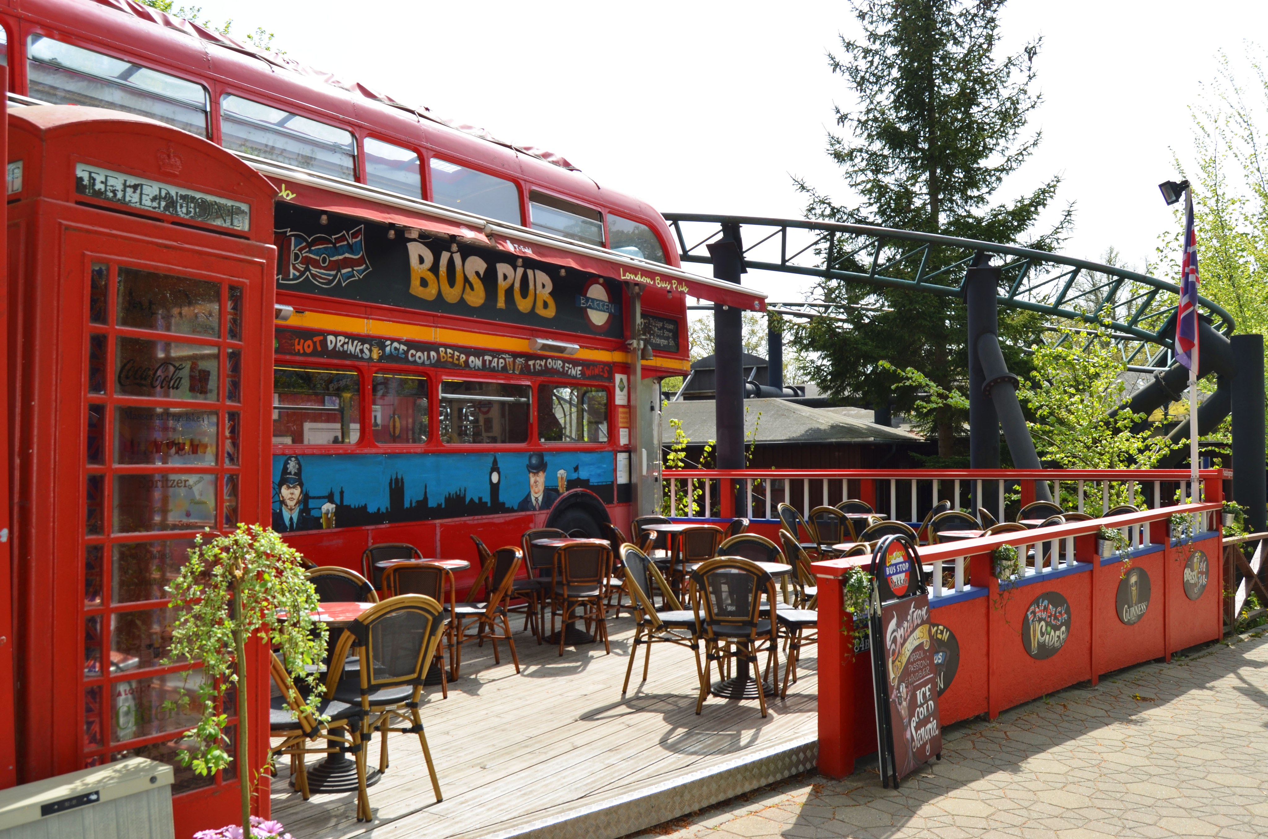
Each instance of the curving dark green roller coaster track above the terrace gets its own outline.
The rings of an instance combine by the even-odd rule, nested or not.
[[[1179,288],[1148,274],[1012,245],[865,224],[704,213],[664,218],[682,262],[710,264],[705,246],[723,234],[724,224],[737,226],[748,270],[942,297],[962,297],[965,270],[984,255],[1000,267],[1002,307],[1038,312],[1051,322],[1103,323],[1123,342],[1129,364],[1153,355],[1151,345],[1172,349]],[[841,318],[847,305],[823,300],[768,308],[787,317]],[[1220,305],[1198,298],[1198,311],[1216,330],[1232,333],[1232,316]]]

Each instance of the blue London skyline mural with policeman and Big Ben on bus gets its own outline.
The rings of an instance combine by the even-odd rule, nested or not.
[[[278,532],[549,509],[588,489],[612,503],[610,451],[275,455]]]

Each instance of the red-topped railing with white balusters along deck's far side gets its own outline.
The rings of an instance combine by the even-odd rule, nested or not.
[[[1222,501],[1222,482],[1231,477],[1224,469],[1200,471],[1200,497]],[[1118,501],[1156,508],[1175,503],[1177,492],[1191,497],[1186,469],[667,469],[662,479],[663,508],[675,518],[775,520],[781,502],[808,516],[814,507],[858,498],[899,521],[918,522],[943,499],[985,507],[1004,521],[1009,509],[1035,501],[1037,482],[1079,512],[1103,512]]]

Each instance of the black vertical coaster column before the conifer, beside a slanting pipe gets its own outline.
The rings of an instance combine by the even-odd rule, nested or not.
[[[999,469],[999,413],[983,388],[987,383],[978,341],[999,331],[999,267],[987,265],[979,252],[965,271],[964,289],[969,321],[969,468]],[[975,484],[976,485],[976,484]],[[974,503],[980,506],[980,499]]]

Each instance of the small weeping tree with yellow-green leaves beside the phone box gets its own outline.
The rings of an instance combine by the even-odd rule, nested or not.
[[[264,767],[252,771],[247,757],[251,744],[247,702],[257,686],[247,678],[246,650],[252,641],[280,648],[292,679],[318,687],[316,668],[311,673],[306,668],[320,663],[326,651],[326,627],[311,617],[318,606],[317,592],[304,574],[299,553],[260,525],[238,525],[237,530],[207,541],[199,536],[167,592],[178,613],[167,660],[203,663],[197,692],[202,719],[185,735],[194,748],[178,752],[178,759],[203,776],[228,767],[235,759],[238,762],[240,835],[251,836],[251,795]],[[230,688],[235,688],[237,697],[236,757],[224,749],[230,741],[224,734],[230,715],[223,703]],[[180,703],[189,702],[186,693]],[[167,707],[175,710],[178,705],[170,701]],[[308,706],[302,710],[313,712]]]

